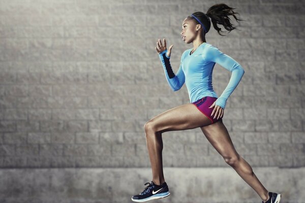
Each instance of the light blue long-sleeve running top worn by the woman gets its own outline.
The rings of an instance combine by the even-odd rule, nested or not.
[[[227,99],[238,85],[245,70],[232,57],[209,43],[200,44],[190,55],[191,51],[192,49],[187,49],[182,53],[177,74],[171,69],[170,57],[166,55],[167,49],[159,53],[169,86],[173,91],[177,91],[186,83],[191,103],[204,96],[212,96],[217,98],[215,104],[224,109]],[[212,87],[212,72],[216,63],[232,73],[220,97]]]

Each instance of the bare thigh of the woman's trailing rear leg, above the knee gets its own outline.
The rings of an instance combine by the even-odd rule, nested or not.
[[[223,121],[219,121],[208,126],[202,126],[200,128],[207,140],[218,151],[218,153],[223,156],[224,159],[238,157],[238,153],[234,148],[229,132]]]

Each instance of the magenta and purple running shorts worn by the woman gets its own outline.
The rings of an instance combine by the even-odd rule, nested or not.
[[[207,116],[212,123],[216,123],[217,121],[222,121],[222,118],[215,118],[213,119],[214,115],[211,116],[211,113],[212,111],[214,110],[214,107],[213,108],[209,108],[213,103],[214,101],[216,101],[216,97],[211,97],[211,96],[205,96],[205,97],[202,97],[200,99],[198,99],[197,101],[194,101],[192,104],[195,105],[197,107],[197,109],[199,111],[201,111],[205,116]]]

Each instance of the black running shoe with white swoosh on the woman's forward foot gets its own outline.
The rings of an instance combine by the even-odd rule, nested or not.
[[[151,183],[147,182],[144,185],[147,186],[145,187],[143,192],[132,196],[131,200],[138,202],[148,201],[151,199],[163,198],[170,194],[166,182],[164,182],[162,185],[156,185],[153,181],[151,181]]]

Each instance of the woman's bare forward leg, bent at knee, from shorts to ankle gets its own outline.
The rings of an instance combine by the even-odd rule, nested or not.
[[[162,165],[162,132],[193,129],[209,124],[211,120],[192,103],[167,110],[145,123],[146,145],[155,184],[161,185],[165,182]]]

